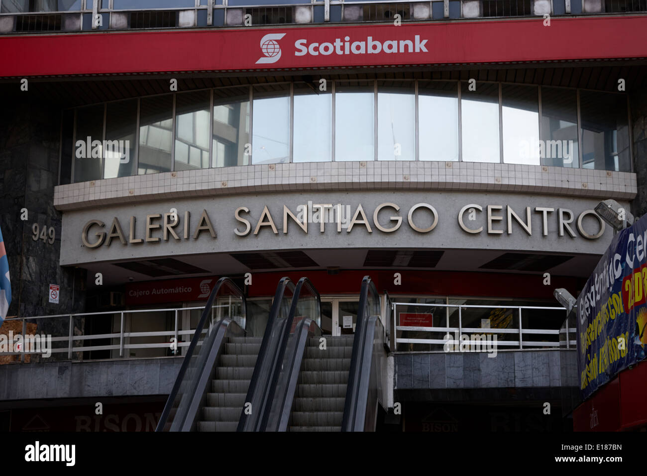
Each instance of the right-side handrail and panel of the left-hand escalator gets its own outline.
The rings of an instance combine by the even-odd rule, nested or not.
[[[245,405],[247,403],[252,404],[252,413],[246,414],[245,411],[241,413],[236,431],[259,431],[260,429],[261,417],[269,398],[268,393],[275,367],[276,350],[283,339],[283,328],[278,328],[277,326],[285,325],[287,320],[284,319],[282,323],[278,322],[281,306],[283,305],[283,295],[288,287],[292,289],[294,295],[296,288],[289,277],[281,278],[276,286],[272,308],[263,334],[263,341],[261,342],[261,349],[245,396]]]

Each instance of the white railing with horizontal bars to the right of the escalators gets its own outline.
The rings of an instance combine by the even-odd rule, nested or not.
[[[433,321],[432,326],[400,325],[400,313],[398,308],[402,308],[403,306],[408,308],[444,308],[446,310],[446,315],[442,320],[445,321],[446,325],[433,326]],[[455,310],[452,315],[450,315],[450,309]],[[495,324],[501,325],[501,327],[465,327],[463,326],[463,313],[465,310],[472,309],[502,310],[498,317],[502,316],[505,319],[499,319],[499,322]],[[488,335],[497,335],[498,338],[494,341],[494,345],[496,345],[499,350],[503,350],[501,347],[516,350],[560,348],[560,346],[562,348],[576,347],[576,341],[571,340],[570,337],[572,334],[569,334],[569,332],[576,332],[574,328],[567,329],[564,325],[562,325],[562,328],[553,329],[537,328],[536,325],[527,325],[524,328],[523,311],[530,310],[539,312],[562,311],[564,312],[564,316],[566,313],[564,308],[547,306],[487,306],[481,304],[421,304],[411,302],[391,302],[391,322],[389,322],[389,328],[394,330],[393,335],[391,335],[391,339],[393,339],[392,341],[395,347],[391,350],[396,350],[398,352],[415,352],[416,350],[450,352],[451,350],[445,350],[446,345],[450,345],[450,348],[463,345],[469,346],[470,352],[474,352],[474,348],[477,349],[476,351],[479,351],[478,349],[480,348],[481,351],[485,352],[485,341],[483,341],[482,336],[487,338]],[[528,319],[529,316],[526,316],[526,318]],[[540,319],[540,317],[535,316],[534,319]],[[457,325],[450,325],[452,321]],[[505,326],[503,326],[504,324]],[[433,333],[435,333],[435,335],[433,335]],[[431,337],[426,337],[428,334],[432,334]],[[478,337],[475,338],[474,335],[477,335]],[[524,335],[532,337],[524,339]],[[466,336],[465,340],[463,340],[464,336]],[[499,339],[499,336],[502,337],[502,339]],[[538,337],[541,340],[539,340]],[[491,338],[493,339],[493,337]],[[427,348],[421,349],[419,348],[419,345],[426,346]],[[418,348],[415,346],[418,346]]]

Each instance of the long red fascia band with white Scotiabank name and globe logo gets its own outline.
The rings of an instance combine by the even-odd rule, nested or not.
[[[645,30],[617,16],[3,36],[0,76],[641,58]]]

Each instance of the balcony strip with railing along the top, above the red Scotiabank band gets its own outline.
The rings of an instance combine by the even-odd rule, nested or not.
[[[584,0],[283,0],[282,3],[277,0],[278,3],[270,5],[254,5],[254,0],[249,0],[247,5],[229,5],[230,1],[234,2],[195,0],[195,6],[187,7],[186,2],[177,0],[171,3],[177,6],[155,8],[156,3],[151,0],[149,8],[135,9],[115,8],[115,0],[103,0],[103,3],[97,0],[94,5],[90,0],[82,0],[78,4],[80,9],[71,12],[45,11],[44,8],[29,11],[27,0],[0,0],[0,34],[647,12],[647,0],[591,0],[586,3]],[[99,8],[97,4],[100,3],[105,8]],[[117,3],[117,6],[124,5],[127,3]]]

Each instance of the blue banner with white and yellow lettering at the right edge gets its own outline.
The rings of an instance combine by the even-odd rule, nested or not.
[[[613,237],[577,299],[580,391],[589,397],[645,358],[647,215]]]

